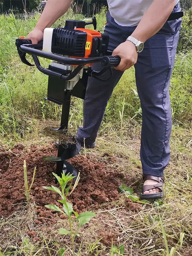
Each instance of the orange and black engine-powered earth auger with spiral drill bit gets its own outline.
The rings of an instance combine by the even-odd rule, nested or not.
[[[96,19],[85,23],[81,20],[66,20],[65,27],[45,28],[43,41],[32,44],[25,37],[16,39],[17,51],[20,59],[28,66],[34,66],[26,59],[26,53],[32,55],[39,71],[48,75],[47,98],[56,104],[62,105],[61,122],[55,131],[67,132],[71,96],[84,99],[88,77],[94,77],[99,81],[109,80],[112,77],[112,67],[118,66],[120,57],[111,56],[108,51],[109,37],[95,30],[85,28],[85,25],[93,24],[96,29]],[[38,57],[53,60],[48,68],[43,68]],[[100,71],[92,69],[94,63],[102,63]],[[107,78],[103,74],[109,73]],[[107,73],[107,74],[108,74]],[[61,175],[77,172],[66,160],[76,156],[81,144],[76,136],[72,141],[59,143],[57,157],[44,156],[46,161],[56,162],[56,173]]]

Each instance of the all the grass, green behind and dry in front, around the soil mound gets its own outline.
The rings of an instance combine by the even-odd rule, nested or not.
[[[39,14],[26,20],[17,20],[13,15],[0,16],[0,140],[12,148],[16,142],[27,144],[47,143],[42,135],[42,126],[57,125],[60,107],[45,102],[47,77],[33,67],[22,64],[14,45],[19,36],[26,36],[35,26]],[[63,26],[65,19],[83,19],[81,14],[69,11],[56,24]],[[103,30],[105,10],[97,14],[98,30]],[[31,58],[28,59],[32,62]],[[43,66],[47,60],[41,60]],[[129,211],[125,195],[109,208],[102,205],[95,209],[97,217],[91,225],[79,231],[75,246],[79,255],[110,255],[111,246],[100,244],[101,231],[118,234],[119,245],[124,244],[124,255],[192,255],[192,56],[190,52],[177,54],[173,70],[170,95],[172,102],[173,129],[171,137],[171,161],[165,171],[165,197],[155,204],[143,204],[140,212]],[[84,149],[82,154],[92,154],[103,161],[101,153],[117,157],[117,162],[108,163],[117,168],[141,189],[141,163],[139,156],[141,112],[136,93],[134,68],[126,71],[108,102],[97,147]],[[123,95],[123,96],[122,96]],[[70,132],[82,124],[83,101],[73,99],[70,113]],[[121,114],[120,114],[121,113]],[[51,125],[50,125],[51,126]],[[118,157],[118,154],[124,157]],[[46,184],[45,184],[46,185]],[[1,198],[0,198],[1,199]],[[47,202],[49,203],[49,202]],[[70,240],[57,230],[67,225],[58,220],[52,227],[36,225],[36,205],[32,200],[9,218],[0,219],[0,255],[57,255],[60,248],[70,248]],[[34,230],[40,241],[28,236]],[[99,242],[98,242],[99,241]],[[92,248],[95,251],[92,252]],[[175,249],[172,249],[175,248]],[[90,252],[91,251],[91,252]],[[68,249],[65,256],[71,255]]]

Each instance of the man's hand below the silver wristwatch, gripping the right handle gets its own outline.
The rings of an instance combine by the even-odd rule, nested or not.
[[[126,40],[124,43],[117,46],[117,48],[113,51],[112,56],[119,56],[121,58],[120,64],[114,68],[125,71],[126,69],[135,65],[137,62],[138,53],[135,45],[131,41]]]

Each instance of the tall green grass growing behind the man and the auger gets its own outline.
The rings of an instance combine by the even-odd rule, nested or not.
[[[106,9],[97,14],[98,30],[103,31]],[[1,139],[17,141],[28,137],[33,131],[37,119],[60,119],[60,107],[44,100],[47,90],[47,76],[40,73],[35,67],[28,67],[21,63],[15,39],[27,36],[34,28],[39,14],[26,20],[17,20],[13,15],[0,16],[0,133]],[[55,23],[55,27],[63,26],[65,19],[83,19],[81,14],[73,14],[70,10]],[[91,26],[90,26],[91,27]],[[27,58],[33,62],[30,56]],[[41,60],[44,67],[48,60]],[[177,55],[170,85],[172,102],[172,118],[174,125],[188,125],[192,116],[192,57],[191,55]],[[114,129],[119,127],[122,104],[125,99],[123,120],[141,122],[138,114],[140,101],[135,96],[134,68],[126,71],[117,84],[111,99],[108,102],[102,127],[113,124]],[[42,106],[45,105],[43,108]],[[82,123],[82,100],[73,99],[71,124],[76,126]],[[140,112],[140,111],[139,111]],[[132,121],[131,121],[132,122]],[[101,130],[102,130],[101,127]]]

